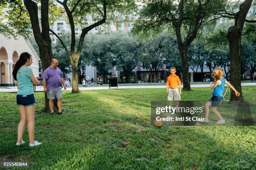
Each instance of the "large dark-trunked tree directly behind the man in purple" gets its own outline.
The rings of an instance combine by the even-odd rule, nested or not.
[[[40,8],[38,8],[38,4],[40,4]],[[2,0],[1,5],[6,7],[6,13],[2,17],[8,20],[8,22],[0,24],[1,32],[4,31],[4,35],[7,36],[22,35],[28,38],[32,27],[42,69],[45,70],[49,67],[51,59],[54,58],[49,36],[49,22],[56,20],[56,13],[59,11],[54,5],[54,0]],[[41,17],[38,17],[38,13],[41,13]],[[44,112],[49,111],[48,101],[45,93]]]

